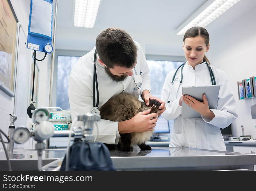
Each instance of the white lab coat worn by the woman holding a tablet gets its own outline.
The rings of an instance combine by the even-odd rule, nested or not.
[[[182,87],[211,85],[209,69],[205,62],[196,65],[195,69],[187,63],[185,64],[183,68],[183,81],[178,92],[181,68],[175,77],[179,80],[175,80],[172,88],[171,81],[175,71],[171,71],[167,75],[163,85],[161,99],[166,102],[166,110],[163,113],[163,117],[168,120],[174,119],[170,147],[191,147],[226,151],[220,128],[227,127],[237,118],[235,100],[226,74],[213,66],[211,66],[211,69],[213,70],[216,84],[221,85],[217,109],[211,109],[215,115],[212,120],[207,117],[182,118],[182,107],[179,106]],[[170,103],[167,103],[168,101]]]

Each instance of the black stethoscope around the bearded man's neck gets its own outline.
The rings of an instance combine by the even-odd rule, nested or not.
[[[98,87],[98,79],[97,79],[97,72],[96,72],[96,55],[97,55],[97,52],[95,50],[94,57],[93,57],[93,109],[91,110],[91,113],[93,113],[93,114],[99,114],[99,109],[98,109],[98,107],[99,107],[99,87]],[[138,75],[135,67],[134,67],[134,72],[135,72],[136,76],[141,77],[142,72],[140,72],[140,74]],[[131,76],[131,77],[135,83],[134,77],[133,76]],[[139,86],[136,83],[135,83],[135,85],[137,88],[133,88],[132,90],[140,90],[142,83],[140,82]],[[96,103],[95,103],[95,86],[96,86],[96,92],[97,92],[97,102]]]

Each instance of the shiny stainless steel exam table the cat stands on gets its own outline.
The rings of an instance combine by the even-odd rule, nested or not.
[[[43,165],[65,156],[65,149],[45,149]],[[118,170],[223,170],[249,169],[256,164],[256,154],[192,149],[185,147],[153,147],[151,151],[110,151]],[[36,170],[35,150],[9,153],[13,170]],[[0,170],[8,170],[4,151],[0,152]]]

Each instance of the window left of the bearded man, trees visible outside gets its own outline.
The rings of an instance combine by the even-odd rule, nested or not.
[[[73,65],[79,58],[79,56],[58,56],[56,106],[63,110],[70,109],[68,101],[68,78]]]

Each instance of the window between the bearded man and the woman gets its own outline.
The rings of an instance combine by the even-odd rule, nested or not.
[[[161,98],[161,91],[163,88],[164,80],[167,74],[177,69],[183,62],[176,62],[176,61],[160,61],[160,60],[147,60],[147,65],[150,69],[150,85],[151,85],[151,94],[153,96]],[[155,129],[156,132],[161,131],[161,125],[169,123],[170,132],[172,131],[173,127],[173,120],[165,120],[162,117],[159,118],[157,122],[157,126]]]

